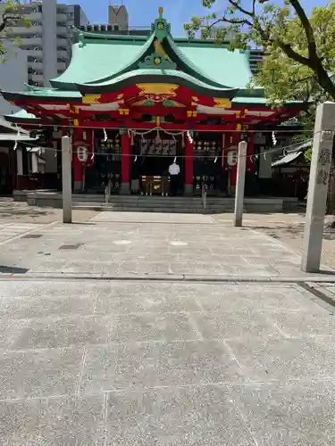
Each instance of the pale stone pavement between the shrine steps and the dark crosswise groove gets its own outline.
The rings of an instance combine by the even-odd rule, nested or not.
[[[105,212],[37,228],[0,253],[0,264],[35,277],[305,277],[299,256],[271,237],[192,214]]]

